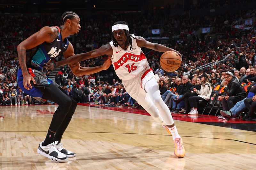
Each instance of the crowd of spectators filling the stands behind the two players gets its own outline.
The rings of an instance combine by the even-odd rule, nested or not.
[[[180,68],[174,72],[166,72],[159,64],[162,53],[142,49],[151,69],[160,77],[159,88],[163,100],[166,91],[178,93],[176,88],[180,83],[177,80],[179,78],[182,80],[185,75],[188,76],[189,83],[198,86],[198,90],[202,84],[201,75],[208,75],[208,80],[214,89],[217,85],[223,86],[223,79],[228,71],[244,85],[256,80],[255,9],[247,5],[247,8],[244,7],[239,11],[223,11],[209,15],[192,14],[194,11],[200,12],[209,7],[218,10],[223,6],[230,6],[232,9],[234,5],[246,6],[254,2],[253,0],[198,0],[195,4],[176,2],[159,8],[144,9],[144,12],[106,10],[94,12],[90,16],[83,11],[75,11],[81,20],[81,31],[78,36],[71,36],[68,39],[74,46],[75,54],[97,49],[111,41],[112,24],[124,20],[128,23],[131,34],[143,36],[148,41],[178,50],[183,54]],[[180,8],[183,8],[184,12],[173,12]],[[189,10],[186,11],[186,8]],[[0,105],[43,104],[22,92],[17,85],[19,61],[16,48],[21,41],[43,26],[60,25],[60,16],[61,13],[47,12],[1,13],[0,18],[4,24],[0,26]],[[152,30],[158,30],[160,33],[154,34]],[[84,67],[98,66],[106,58],[107,56],[100,56],[82,61],[80,64]],[[55,61],[61,59],[62,56]],[[112,66],[94,75],[76,77],[66,65],[48,72],[47,75],[49,77],[51,75],[51,78],[77,102],[115,107],[140,107],[125,91],[122,81],[117,78]],[[181,85],[186,83],[181,81]],[[178,95],[185,94],[186,90],[180,91]],[[182,110],[182,107],[177,109],[173,103],[167,105],[172,111]]]

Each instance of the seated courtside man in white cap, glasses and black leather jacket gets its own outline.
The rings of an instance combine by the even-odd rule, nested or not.
[[[218,100],[221,100],[224,111],[230,110],[234,105],[246,98],[246,92],[242,84],[233,77],[233,73],[227,71],[224,75],[225,81],[223,82],[224,91],[226,96],[219,96]]]

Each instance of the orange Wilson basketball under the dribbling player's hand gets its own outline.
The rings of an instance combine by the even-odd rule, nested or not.
[[[166,51],[160,57],[161,67],[168,72],[177,70],[180,67],[180,55],[174,51]]]

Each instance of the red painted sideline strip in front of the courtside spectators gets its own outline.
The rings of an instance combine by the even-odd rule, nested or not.
[[[78,103],[81,106],[98,107],[102,109],[115,110],[120,112],[134,113],[140,115],[148,115],[148,112],[144,109],[133,109],[127,107],[108,107],[105,105],[94,105],[89,103]],[[186,121],[186,122],[228,122],[228,123],[256,123],[255,121],[243,121],[236,118],[236,120],[224,120],[218,119],[217,116],[212,115],[188,115],[188,114],[172,114],[174,120]]]

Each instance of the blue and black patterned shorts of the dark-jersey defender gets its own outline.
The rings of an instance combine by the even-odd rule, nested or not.
[[[23,75],[22,75],[21,68],[19,68],[19,70],[17,72],[17,83],[18,83],[20,89],[23,90],[23,92],[25,92],[26,94],[35,98],[38,101],[42,101],[42,102],[46,101],[46,100],[42,99],[45,86],[49,86],[50,84],[53,84],[53,85],[56,85],[57,87],[59,87],[59,85],[57,83],[53,82],[50,78],[47,78],[47,76],[45,76],[41,71],[28,68],[28,73],[36,81],[35,85],[34,85],[34,83],[32,83],[32,81],[30,81],[30,84],[32,83],[31,84],[32,89],[31,88],[29,88],[29,90],[25,89],[25,87],[23,85]]]

